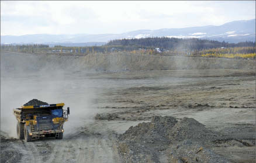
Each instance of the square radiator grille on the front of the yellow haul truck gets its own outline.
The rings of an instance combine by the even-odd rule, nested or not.
[[[40,116],[37,119],[37,131],[53,130],[53,118],[51,116]]]

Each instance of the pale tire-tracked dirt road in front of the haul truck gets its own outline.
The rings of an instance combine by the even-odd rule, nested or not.
[[[115,122],[112,126],[118,127]],[[9,162],[120,162],[116,148],[116,134],[106,122],[95,121],[85,127],[74,129],[74,133],[64,134],[63,140],[40,138],[32,142],[10,141],[4,149],[17,154],[4,159]],[[20,155],[21,158],[17,158]],[[16,157],[16,158],[15,158]]]

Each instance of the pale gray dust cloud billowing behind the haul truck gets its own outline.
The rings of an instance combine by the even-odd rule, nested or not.
[[[56,60],[54,56],[1,53],[1,131],[10,137],[16,137],[17,120],[12,109],[34,98],[47,103],[64,102],[64,109],[70,107],[64,138],[92,122],[97,112],[92,101],[98,84],[88,79],[87,71],[77,72],[72,63],[64,66],[51,57]]]

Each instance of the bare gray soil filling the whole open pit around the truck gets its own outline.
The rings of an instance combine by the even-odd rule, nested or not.
[[[1,53],[1,162],[255,162],[254,60],[83,57]],[[12,108],[34,98],[70,106],[63,140],[16,139]]]

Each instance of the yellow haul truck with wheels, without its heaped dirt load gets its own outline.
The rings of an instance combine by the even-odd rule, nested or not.
[[[63,138],[63,124],[70,115],[70,107],[63,109],[64,103],[47,105],[27,105],[13,109],[18,120],[17,135],[19,139],[32,141],[32,138]]]

